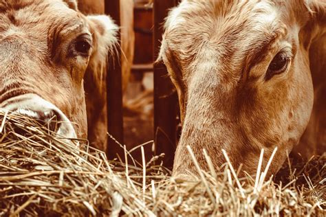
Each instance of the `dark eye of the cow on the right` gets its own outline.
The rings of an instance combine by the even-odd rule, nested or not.
[[[265,79],[269,80],[273,76],[283,73],[287,69],[289,62],[290,57],[285,54],[285,52],[279,52],[279,54],[276,54],[272,62],[270,62],[270,66],[268,67]]]

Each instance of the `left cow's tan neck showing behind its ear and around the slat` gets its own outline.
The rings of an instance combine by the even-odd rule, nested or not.
[[[103,0],[79,0],[78,7],[85,14],[104,13]],[[133,0],[120,1],[121,49],[122,49],[122,90],[126,89],[133,64],[135,33],[133,32]],[[120,47],[117,47],[120,49]],[[95,76],[101,72],[102,76]],[[85,76],[87,120],[89,141],[100,150],[107,144],[107,96],[105,83],[105,64],[89,67]],[[95,76],[95,77],[94,77]]]

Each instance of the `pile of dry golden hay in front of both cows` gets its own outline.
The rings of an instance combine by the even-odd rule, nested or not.
[[[238,179],[228,163],[182,181],[157,165],[161,157],[107,161],[86,141],[56,139],[31,119],[0,119],[0,216],[326,215],[326,155],[289,159],[277,181]]]

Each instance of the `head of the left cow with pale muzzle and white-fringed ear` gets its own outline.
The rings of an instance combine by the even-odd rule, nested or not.
[[[101,73],[117,26],[84,16],[75,0],[1,0],[0,20],[1,109],[87,137],[83,77]]]

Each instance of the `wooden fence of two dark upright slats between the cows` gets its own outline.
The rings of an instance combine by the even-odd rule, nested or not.
[[[169,9],[177,4],[177,0],[153,1],[153,57],[154,62],[160,50],[162,41],[164,18]],[[120,25],[120,0],[105,1],[105,12]],[[120,34],[119,34],[120,37]],[[122,82],[121,82],[121,53],[109,59],[107,71],[107,117],[108,132],[121,144],[123,143],[123,118],[122,118]],[[173,84],[167,76],[166,67],[162,62],[154,64],[154,139],[155,154],[164,152],[164,165],[171,167],[177,142],[178,102]],[[123,150],[109,138],[107,155],[110,159],[118,155],[123,156]]]

